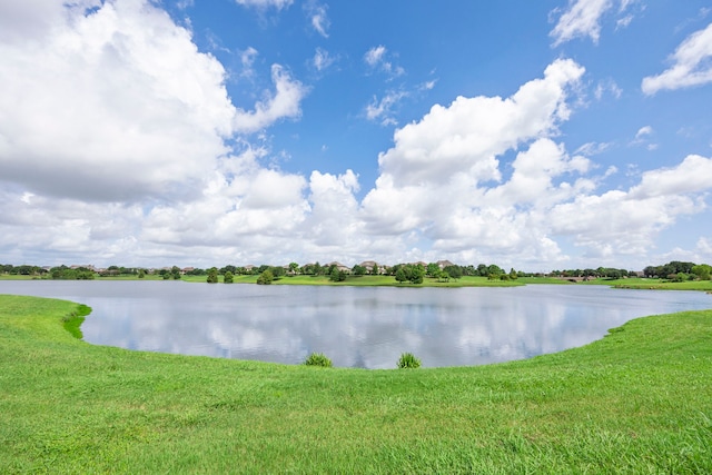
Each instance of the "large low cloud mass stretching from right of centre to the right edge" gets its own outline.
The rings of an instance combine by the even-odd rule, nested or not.
[[[705,208],[712,160],[690,156],[643,174],[627,191],[596,192],[610,174],[591,176],[594,164],[554,140],[582,75],[556,60],[508,98],[459,97],[396,130],[362,204],[368,228],[415,236],[424,255],[463,261],[484,255],[555,266],[567,259],[562,243],[599,264],[650,251],[679,216]],[[511,150],[517,155],[507,164]]]

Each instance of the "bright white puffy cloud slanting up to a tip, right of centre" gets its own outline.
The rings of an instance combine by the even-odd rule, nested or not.
[[[395,132],[395,147],[378,157],[384,175],[397,186],[446,184],[457,174],[474,182],[498,180],[498,155],[532,138],[555,132],[568,117],[566,92],[584,69],[556,60],[543,79],[512,97],[458,97],[434,106],[419,121]]]

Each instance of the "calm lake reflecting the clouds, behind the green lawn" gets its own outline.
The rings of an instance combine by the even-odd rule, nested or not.
[[[129,349],[335,366],[482,365],[582,346],[641,316],[712,308],[712,295],[603,286],[393,288],[182,281],[0,281],[0,294],[92,307],[85,340]]]

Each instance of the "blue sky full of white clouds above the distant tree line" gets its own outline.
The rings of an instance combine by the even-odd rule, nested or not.
[[[712,4],[0,0],[0,260],[712,261]]]

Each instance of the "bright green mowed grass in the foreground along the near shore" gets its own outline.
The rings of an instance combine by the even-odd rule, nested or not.
[[[0,473],[712,473],[712,310],[392,370],[92,346],[77,313],[0,296]]]

